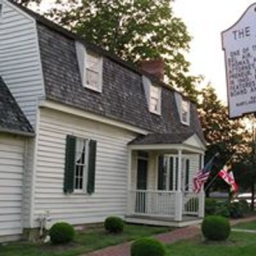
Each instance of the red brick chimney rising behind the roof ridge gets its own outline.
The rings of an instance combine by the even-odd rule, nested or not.
[[[140,68],[153,76],[156,76],[159,80],[164,81],[164,60],[143,60],[140,63]]]

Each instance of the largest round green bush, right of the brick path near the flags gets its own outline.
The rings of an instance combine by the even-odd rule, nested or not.
[[[223,241],[230,235],[230,224],[222,216],[207,216],[202,223],[202,232],[206,239]]]

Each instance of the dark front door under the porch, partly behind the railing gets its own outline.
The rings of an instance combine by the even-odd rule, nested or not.
[[[137,167],[137,189],[136,193],[136,212],[144,213],[146,208],[146,190],[148,177],[148,161],[147,159],[138,158]]]

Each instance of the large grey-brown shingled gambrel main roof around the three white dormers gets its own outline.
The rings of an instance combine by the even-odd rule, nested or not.
[[[46,99],[157,134],[197,134],[205,142],[195,103],[190,104],[190,125],[182,124],[175,90],[168,84],[97,45],[84,42],[37,13],[22,6],[19,8],[36,20]],[[83,87],[76,42],[103,56],[101,93]],[[161,115],[148,111],[143,76],[162,88]]]

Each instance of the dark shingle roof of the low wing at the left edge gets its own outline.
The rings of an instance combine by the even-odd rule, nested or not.
[[[33,135],[33,128],[0,76],[0,131]]]

